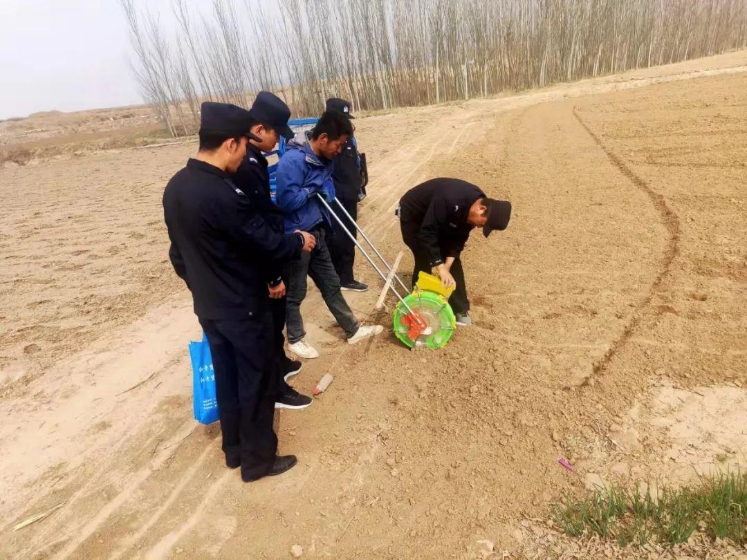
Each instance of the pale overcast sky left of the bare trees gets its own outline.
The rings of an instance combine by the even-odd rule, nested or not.
[[[139,103],[128,54],[117,0],[0,0],[0,119]]]

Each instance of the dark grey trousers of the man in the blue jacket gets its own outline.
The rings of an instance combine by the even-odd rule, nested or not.
[[[327,308],[344,330],[345,337],[350,338],[358,332],[359,323],[340,291],[340,278],[332,265],[324,230],[314,229],[309,233],[317,238],[317,246],[311,252],[302,252],[299,260],[291,261],[288,273],[286,286],[288,305],[285,314],[288,342],[293,344],[306,336],[301,318],[301,302],[306,298],[306,276],[311,276]]]

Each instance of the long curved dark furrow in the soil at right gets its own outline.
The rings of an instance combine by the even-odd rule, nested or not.
[[[587,125],[586,122],[584,122],[584,120],[581,118],[580,114],[578,113],[578,108],[575,105],[573,108],[573,116],[587,132],[587,134],[592,137],[592,140],[594,140],[597,146],[599,146],[599,148],[607,155],[607,158],[610,160],[610,162],[615,167],[617,167],[617,169],[619,169],[622,175],[624,175],[631,183],[642,190],[648,196],[648,198],[651,199],[652,205],[654,205],[654,208],[656,208],[656,210],[659,212],[662,223],[664,224],[666,231],[669,233],[669,240],[667,243],[666,251],[663,255],[659,273],[651,283],[651,286],[648,288],[648,292],[646,293],[645,297],[634,308],[633,317],[630,318],[630,323],[627,323],[627,326],[625,326],[625,328],[623,329],[622,335],[620,335],[617,340],[614,340],[613,343],[610,344],[610,349],[608,349],[601,360],[594,365],[594,373],[595,375],[598,375],[604,373],[607,370],[607,367],[610,365],[610,362],[613,360],[613,358],[615,358],[619,350],[622,349],[622,347],[628,342],[628,340],[630,340],[630,337],[633,336],[633,332],[636,332],[636,330],[642,323],[642,320],[647,317],[648,308],[651,307],[651,301],[653,301],[654,296],[657,295],[657,292],[660,290],[660,287],[666,276],[668,276],[669,273],[672,272],[672,262],[680,253],[680,237],[682,234],[682,228],[680,225],[680,218],[675,213],[675,211],[672,210],[672,208],[669,208],[669,205],[667,205],[664,196],[654,191],[646,181],[640,178],[639,175],[636,175],[636,172],[634,172],[633,169],[628,167],[621,158],[615,155],[612,150],[604,145],[604,142],[602,142],[598,134],[592,131],[592,128],[590,128],[589,125]]]

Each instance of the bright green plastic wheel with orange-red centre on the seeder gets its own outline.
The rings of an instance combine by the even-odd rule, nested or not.
[[[408,348],[426,346],[436,349],[445,346],[456,329],[456,317],[447,299],[438,293],[416,289],[406,296],[405,302],[425,320],[427,328],[412,340],[409,336],[412,321],[406,319],[409,311],[399,302],[394,309],[394,335]]]

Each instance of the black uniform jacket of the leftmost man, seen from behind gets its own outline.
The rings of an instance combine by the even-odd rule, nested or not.
[[[192,290],[202,319],[247,319],[269,309],[272,258],[298,258],[303,237],[282,235],[262,219],[229,173],[190,159],[164,190],[169,257]]]

